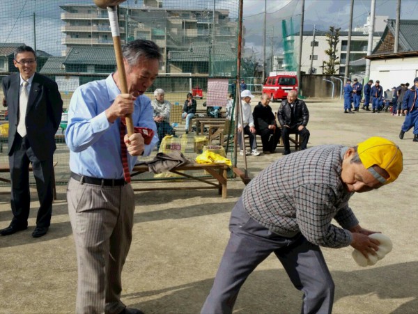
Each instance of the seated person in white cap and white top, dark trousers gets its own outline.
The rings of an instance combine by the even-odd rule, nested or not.
[[[247,89],[241,92],[242,119],[241,115],[238,115],[238,145],[240,146],[240,155],[242,156],[244,155],[241,134],[242,131],[244,131],[244,134],[249,136],[251,155],[260,155],[260,152],[257,150],[256,128],[254,127],[254,118],[251,113],[251,98],[254,98],[254,95],[252,95]],[[246,155],[248,154],[246,153]]]

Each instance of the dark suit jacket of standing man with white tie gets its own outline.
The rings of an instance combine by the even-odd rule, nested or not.
[[[8,155],[13,152],[13,143],[19,123],[20,73],[3,78],[3,93],[8,106],[9,134]],[[26,109],[26,132],[31,148],[40,160],[52,158],[56,149],[54,136],[61,121],[63,100],[55,81],[35,73],[29,91]]]

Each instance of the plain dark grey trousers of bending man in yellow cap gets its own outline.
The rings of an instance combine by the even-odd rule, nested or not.
[[[233,207],[229,229],[231,237],[202,314],[232,313],[242,284],[270,253],[304,292],[302,313],[332,312],[334,282],[319,246],[300,233],[291,238],[272,233],[249,217],[241,198]]]

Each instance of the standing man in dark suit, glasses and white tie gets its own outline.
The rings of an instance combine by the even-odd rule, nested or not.
[[[54,136],[59,127],[63,101],[55,81],[36,73],[36,53],[29,46],[17,47],[13,63],[19,73],[3,79],[8,106],[8,156],[13,219],[1,235],[12,235],[28,228],[30,207],[29,162],[40,207],[33,237],[48,231],[52,214]]]

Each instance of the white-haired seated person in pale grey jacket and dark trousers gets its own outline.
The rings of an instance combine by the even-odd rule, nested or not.
[[[166,135],[174,135],[174,129],[170,125],[171,104],[168,100],[164,100],[164,90],[157,88],[154,91],[155,99],[151,102],[154,109],[154,121],[157,125],[158,141],[157,149],[160,148],[161,141]]]

